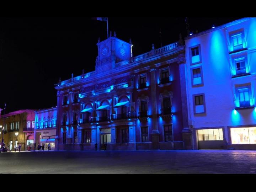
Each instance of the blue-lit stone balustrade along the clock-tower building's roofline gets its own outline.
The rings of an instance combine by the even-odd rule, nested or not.
[[[180,46],[180,45],[177,42],[175,42],[175,43],[169,44],[167,46],[161,47],[159,49],[151,50],[150,52],[147,52],[147,53],[144,53],[144,54],[141,54],[141,55],[138,55],[138,56],[134,57],[132,62],[138,62],[139,60],[149,58],[153,55],[164,53],[166,51],[170,51],[170,50],[172,50],[172,49],[174,49],[178,46]],[[98,61],[97,65],[101,65],[102,63],[108,62],[110,60],[111,60],[111,57],[105,58],[101,61]],[[124,66],[124,65],[127,65],[129,63],[130,63],[130,60],[124,60],[124,61],[116,63],[115,67],[118,68],[120,66]],[[79,75],[77,77],[74,77],[74,78],[71,78],[71,79],[68,79],[68,80],[65,80],[65,81],[61,81],[60,83],[58,83],[58,86],[62,86],[62,85],[65,85],[65,84],[68,84],[68,83],[71,83],[71,82],[79,81],[80,79],[89,78],[91,76],[94,76],[95,74],[96,74],[96,71],[92,71],[92,72],[86,73],[84,75]]]

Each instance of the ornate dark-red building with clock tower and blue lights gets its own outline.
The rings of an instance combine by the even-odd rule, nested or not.
[[[58,150],[184,149],[181,92],[186,92],[180,41],[133,57],[132,43],[114,36],[97,43],[96,70],[60,81]],[[187,118],[185,119],[187,121]],[[186,122],[185,122],[186,124]],[[189,134],[188,134],[189,135]],[[184,142],[183,142],[184,141]],[[58,144],[57,144],[58,142]],[[190,146],[191,147],[191,146]]]

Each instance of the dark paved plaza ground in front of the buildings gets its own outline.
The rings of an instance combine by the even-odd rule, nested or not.
[[[256,151],[0,153],[0,174],[255,174]]]

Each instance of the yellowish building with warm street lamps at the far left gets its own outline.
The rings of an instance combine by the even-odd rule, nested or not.
[[[29,142],[34,140],[34,110],[19,110],[1,115],[0,125],[4,127],[4,143],[11,151],[21,145],[21,150],[27,150]],[[15,133],[18,133],[17,137]],[[2,139],[2,130],[1,135]]]

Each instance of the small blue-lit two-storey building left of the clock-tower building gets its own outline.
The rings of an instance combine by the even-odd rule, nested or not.
[[[57,123],[57,107],[35,111],[36,126],[34,129],[34,138],[36,149],[38,144],[44,144],[44,150],[55,149],[56,123]],[[32,147],[34,150],[34,146]]]

